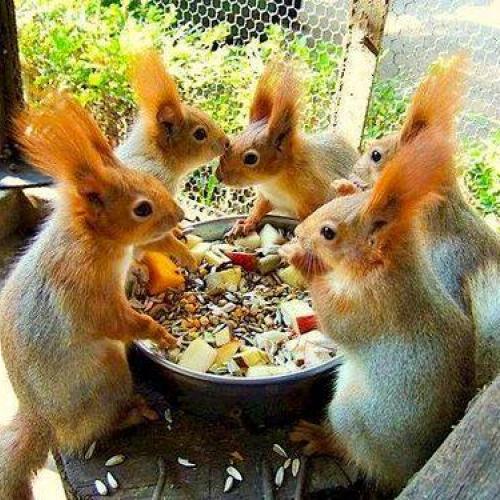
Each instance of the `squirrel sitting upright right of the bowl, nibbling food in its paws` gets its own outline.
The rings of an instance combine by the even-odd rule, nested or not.
[[[354,462],[396,494],[462,417],[475,390],[472,323],[429,271],[420,223],[453,186],[454,145],[429,126],[398,148],[372,191],[338,197],[284,248],[311,282],[343,362],[325,426],[305,452]]]

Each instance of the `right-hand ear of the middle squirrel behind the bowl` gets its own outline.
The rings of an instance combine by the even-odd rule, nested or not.
[[[268,122],[269,138],[272,145],[281,150],[286,141],[293,138],[299,121],[300,83],[291,66],[281,77],[276,90],[273,111]]]

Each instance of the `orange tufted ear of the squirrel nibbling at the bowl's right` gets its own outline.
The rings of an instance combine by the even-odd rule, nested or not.
[[[402,241],[415,216],[453,185],[453,154],[446,131],[426,127],[387,163],[362,210],[371,234],[384,228],[381,247]]]

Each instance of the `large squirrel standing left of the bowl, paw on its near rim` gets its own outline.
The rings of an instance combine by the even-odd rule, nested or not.
[[[124,294],[132,248],[161,239],[183,211],[154,177],[125,168],[76,101],[55,96],[17,119],[24,155],[59,183],[54,212],[0,293],[0,346],[19,400],[0,431],[0,498],[31,498],[52,448],[81,450],[156,419],[134,393],[125,347],[175,338]]]

